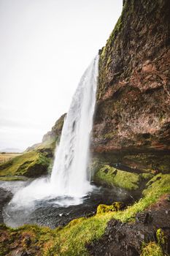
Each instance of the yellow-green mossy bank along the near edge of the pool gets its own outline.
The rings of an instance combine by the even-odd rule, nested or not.
[[[86,245],[101,238],[110,219],[119,219],[122,222],[132,221],[137,213],[157,202],[161,195],[170,192],[170,174],[159,174],[151,181],[147,183],[142,199],[123,211],[119,210],[120,204],[117,204],[117,202],[113,203],[112,206],[100,206],[98,207],[98,211],[99,209],[100,211],[95,216],[75,219],[66,227],[58,227],[54,230],[47,227],[38,227],[37,225],[24,225],[18,229],[0,225],[0,233],[3,237],[0,243],[0,255],[8,255],[16,247],[23,248],[23,246],[26,246],[26,249],[31,250],[32,255],[87,256]],[[110,209],[115,208],[114,204],[118,211],[110,211]],[[104,212],[101,212],[102,210]],[[161,232],[158,231],[158,234],[161,234]],[[30,246],[26,242],[28,241],[26,236],[30,238]],[[162,234],[158,236],[158,240],[163,243]],[[36,251],[34,251],[34,248]],[[144,244],[142,256],[152,255],[163,256],[161,246],[155,242]]]

